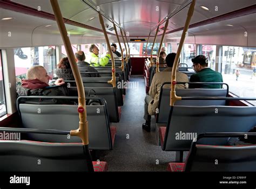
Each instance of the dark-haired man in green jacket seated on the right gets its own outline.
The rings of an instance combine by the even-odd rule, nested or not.
[[[219,72],[213,71],[208,66],[208,60],[204,55],[198,55],[192,58],[193,69],[197,73],[190,77],[190,82],[223,82],[223,78]],[[221,89],[222,85],[198,85],[190,84],[190,89],[205,88],[205,89]]]

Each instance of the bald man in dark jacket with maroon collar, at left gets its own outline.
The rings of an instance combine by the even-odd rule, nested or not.
[[[32,66],[26,72],[27,79],[22,79],[22,85],[17,86],[19,96],[68,96],[69,90],[62,78],[50,83],[51,77],[43,66]]]

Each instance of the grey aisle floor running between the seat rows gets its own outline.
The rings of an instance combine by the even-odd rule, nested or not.
[[[117,127],[112,151],[100,152],[100,160],[106,161],[109,171],[166,171],[174,161],[175,152],[165,152],[157,145],[156,125],[152,116],[151,132],[142,130],[145,122],[143,76],[131,76],[130,82],[138,82],[136,89],[127,89],[122,116]]]

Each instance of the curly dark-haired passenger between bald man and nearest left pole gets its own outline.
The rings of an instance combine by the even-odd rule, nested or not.
[[[55,73],[58,78],[63,78],[64,80],[75,80],[68,57],[64,57],[60,60],[57,64]]]

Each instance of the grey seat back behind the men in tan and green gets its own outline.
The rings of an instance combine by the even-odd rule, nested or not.
[[[167,123],[169,113],[171,110],[170,106],[170,89],[163,88],[162,85],[157,115],[157,123]],[[177,89],[176,95],[180,97],[226,97],[228,94],[227,89]],[[174,105],[186,105],[186,106],[225,106],[225,100],[178,100]]]

